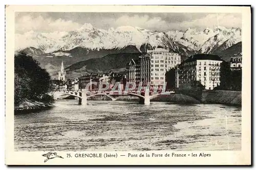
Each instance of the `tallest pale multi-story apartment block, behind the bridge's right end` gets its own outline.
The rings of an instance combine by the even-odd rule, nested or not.
[[[138,60],[131,60],[126,65],[127,82],[142,82],[146,86],[163,86],[165,84],[165,73],[181,63],[181,56],[170,53],[162,47],[148,50]]]

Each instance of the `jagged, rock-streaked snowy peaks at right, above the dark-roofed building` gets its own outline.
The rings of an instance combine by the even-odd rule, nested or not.
[[[199,53],[214,53],[218,47],[222,50],[242,41],[242,30],[240,28],[227,29],[216,27],[206,28],[203,31],[187,29],[186,31],[169,31],[167,34],[184,46],[193,48]]]

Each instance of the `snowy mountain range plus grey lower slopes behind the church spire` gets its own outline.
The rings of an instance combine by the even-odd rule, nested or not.
[[[16,51],[33,56],[50,75],[56,74],[63,60],[65,66],[101,58],[109,54],[141,53],[145,47],[163,46],[181,56],[198,53],[220,54],[241,41],[241,29],[217,27],[198,31],[150,31],[139,27],[102,30],[85,23],[70,32],[15,34]]]

